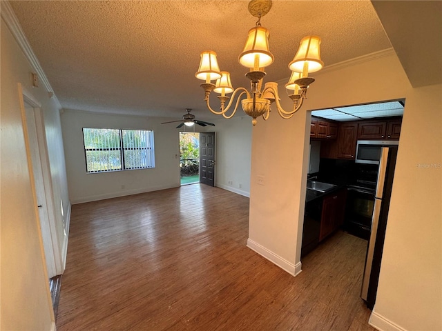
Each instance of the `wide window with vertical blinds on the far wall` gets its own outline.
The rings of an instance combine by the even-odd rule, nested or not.
[[[86,172],[155,168],[153,131],[83,128]]]

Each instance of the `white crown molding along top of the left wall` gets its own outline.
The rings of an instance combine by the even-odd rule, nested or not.
[[[30,43],[23,32],[23,29],[20,26],[17,16],[15,16],[15,12],[12,9],[12,6],[10,5],[9,1],[0,1],[0,3],[1,3],[1,8],[0,8],[1,18],[5,21],[6,25],[10,29],[10,32],[12,33],[12,36],[19,44],[26,59],[28,59],[30,66],[32,67],[32,70],[34,70],[37,73],[39,82],[41,82],[41,84],[48,92],[48,97],[53,98],[55,102],[58,104],[59,108],[61,108],[61,105],[54,94],[54,90],[52,89],[52,86],[50,86],[48,78],[46,77],[43,68],[41,68],[39,60],[35,56],[35,53],[32,50]]]

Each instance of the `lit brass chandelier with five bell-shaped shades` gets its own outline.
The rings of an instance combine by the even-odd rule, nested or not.
[[[242,87],[233,89],[230,74],[227,71],[220,71],[215,52],[207,50],[201,53],[200,68],[198,68],[195,77],[205,81],[200,86],[205,91],[206,106],[213,114],[230,119],[236,113],[239,101],[245,94],[246,98],[241,101],[242,110],[253,118],[253,126],[256,126],[257,117],[262,115],[265,120],[269,118],[270,106],[273,102],[276,104],[280,117],[289,119],[301,108],[302,102],[306,99],[307,88],[315,81],[308,74],[323,68],[324,63],[319,54],[320,38],[316,36],[305,37],[300,41],[298,52],[296,52],[293,61],[289,63],[291,77],[289,82],[285,84],[287,90],[293,91],[292,94],[289,94],[289,98],[294,103],[293,109],[290,111],[282,109],[277,83],[265,83],[262,88],[262,80],[266,75],[265,67],[270,66],[274,59],[273,54],[269,51],[269,30],[262,27],[260,23],[261,17],[265,16],[270,8],[271,0],[249,2],[249,12],[254,17],[258,17],[258,21],[256,27],[249,30],[249,37],[238,61],[242,66],[249,68],[246,77],[250,79],[250,92]],[[215,83],[211,81],[215,81]],[[220,94],[218,95],[220,111],[213,110],[210,106],[209,97],[212,91]],[[226,95],[229,93],[232,93],[231,97]],[[232,112],[227,115],[235,97],[237,97],[235,106]]]

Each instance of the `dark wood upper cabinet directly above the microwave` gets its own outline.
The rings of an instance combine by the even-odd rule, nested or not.
[[[398,140],[401,119],[363,121],[358,124],[358,140]]]

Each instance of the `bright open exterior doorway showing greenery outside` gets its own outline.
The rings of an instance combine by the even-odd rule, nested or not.
[[[200,133],[180,132],[181,185],[200,183]]]

